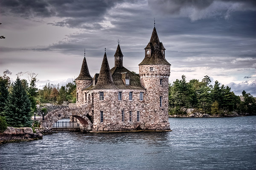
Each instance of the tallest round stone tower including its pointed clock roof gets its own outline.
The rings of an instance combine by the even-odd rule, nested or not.
[[[154,27],[151,39],[145,49],[145,58],[139,64],[140,82],[146,88],[145,99],[148,113],[145,127],[169,130],[168,122],[168,85],[170,63],[165,59],[165,48],[159,41]],[[152,127],[153,126],[153,127]]]

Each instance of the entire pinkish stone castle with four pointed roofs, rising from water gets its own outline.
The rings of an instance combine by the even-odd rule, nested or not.
[[[115,66],[109,68],[105,52],[100,72],[93,78],[84,57],[76,78],[76,107],[89,108],[87,117],[92,131],[170,130],[170,64],[165,50],[154,27],[139,74],[123,66],[119,44],[114,54]]]

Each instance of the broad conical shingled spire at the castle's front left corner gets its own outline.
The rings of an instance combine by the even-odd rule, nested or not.
[[[116,85],[114,84],[113,78],[110,73],[106,52],[103,57],[98,81],[93,89],[116,89]]]

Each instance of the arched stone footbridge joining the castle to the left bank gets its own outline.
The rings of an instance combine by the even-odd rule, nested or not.
[[[89,119],[89,113],[90,109],[87,106],[56,109],[44,116],[45,120],[41,120],[41,127],[52,127],[58,120],[73,116],[79,120],[80,130],[88,131],[91,130],[93,126]]]

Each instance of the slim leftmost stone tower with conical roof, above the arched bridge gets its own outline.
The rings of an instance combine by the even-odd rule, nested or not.
[[[81,104],[84,104],[84,98],[86,97],[86,94],[83,94],[82,89],[88,87],[93,82],[93,78],[90,76],[87,62],[85,59],[85,51],[84,51],[84,60],[82,63],[79,77],[77,77],[75,80],[76,80],[76,104],[81,105]]]

